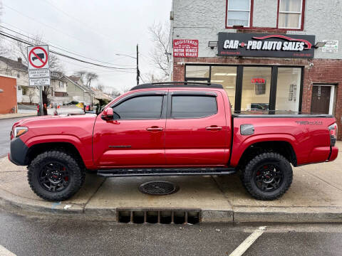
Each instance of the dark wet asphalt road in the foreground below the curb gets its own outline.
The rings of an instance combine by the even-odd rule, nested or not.
[[[118,224],[0,211],[0,245],[16,255],[229,255],[259,225]],[[268,225],[244,255],[341,255],[342,225]]]

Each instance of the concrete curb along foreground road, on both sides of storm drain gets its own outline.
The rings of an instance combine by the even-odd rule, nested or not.
[[[30,217],[58,217],[117,221],[116,208],[86,204],[36,201],[0,189],[0,208]],[[38,204],[39,202],[39,204]],[[342,223],[342,207],[248,207],[200,210],[201,223]]]

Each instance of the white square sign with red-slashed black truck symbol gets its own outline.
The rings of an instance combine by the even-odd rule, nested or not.
[[[48,68],[48,46],[29,46],[28,69],[47,69]]]

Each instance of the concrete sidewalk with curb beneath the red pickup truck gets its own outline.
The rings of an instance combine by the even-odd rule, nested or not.
[[[342,149],[342,142],[338,142]],[[341,152],[341,150],[340,150]],[[118,210],[199,210],[202,222],[342,222],[342,152],[336,161],[294,168],[289,191],[276,201],[257,201],[237,175],[102,178],[88,174],[68,201],[51,203],[28,186],[26,167],[0,159],[0,206],[16,213],[116,220]],[[180,191],[148,196],[140,183],[166,180]]]

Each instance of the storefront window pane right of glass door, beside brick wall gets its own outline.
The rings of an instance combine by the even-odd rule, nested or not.
[[[301,68],[278,68],[276,110],[299,111]]]

